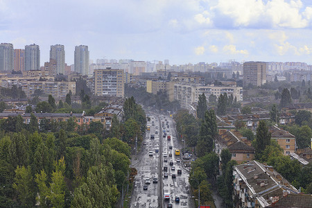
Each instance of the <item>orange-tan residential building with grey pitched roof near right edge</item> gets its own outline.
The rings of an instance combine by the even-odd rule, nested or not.
[[[290,132],[278,128],[276,125],[270,128],[271,139],[277,141],[277,144],[283,149],[284,155],[295,153],[296,138]]]

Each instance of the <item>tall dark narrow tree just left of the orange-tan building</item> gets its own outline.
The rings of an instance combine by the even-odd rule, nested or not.
[[[259,159],[266,146],[270,145],[271,133],[268,131],[265,121],[259,121],[257,128],[256,140],[254,141],[254,148],[256,150],[256,158]]]

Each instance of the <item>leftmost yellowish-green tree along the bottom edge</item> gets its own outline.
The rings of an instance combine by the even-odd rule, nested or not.
[[[33,207],[35,205],[35,189],[30,167],[17,166],[13,188],[17,191],[19,201],[23,207]]]

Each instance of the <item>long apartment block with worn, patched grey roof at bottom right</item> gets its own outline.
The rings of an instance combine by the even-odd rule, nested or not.
[[[300,193],[272,166],[251,161],[233,169],[234,207],[269,207],[290,194]]]

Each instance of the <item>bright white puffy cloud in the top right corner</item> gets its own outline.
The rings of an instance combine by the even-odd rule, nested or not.
[[[219,0],[211,9],[216,12],[216,19],[228,21],[227,26],[305,28],[309,26],[312,12],[308,7],[302,12],[302,7],[300,0],[268,0],[266,3],[261,0]]]

